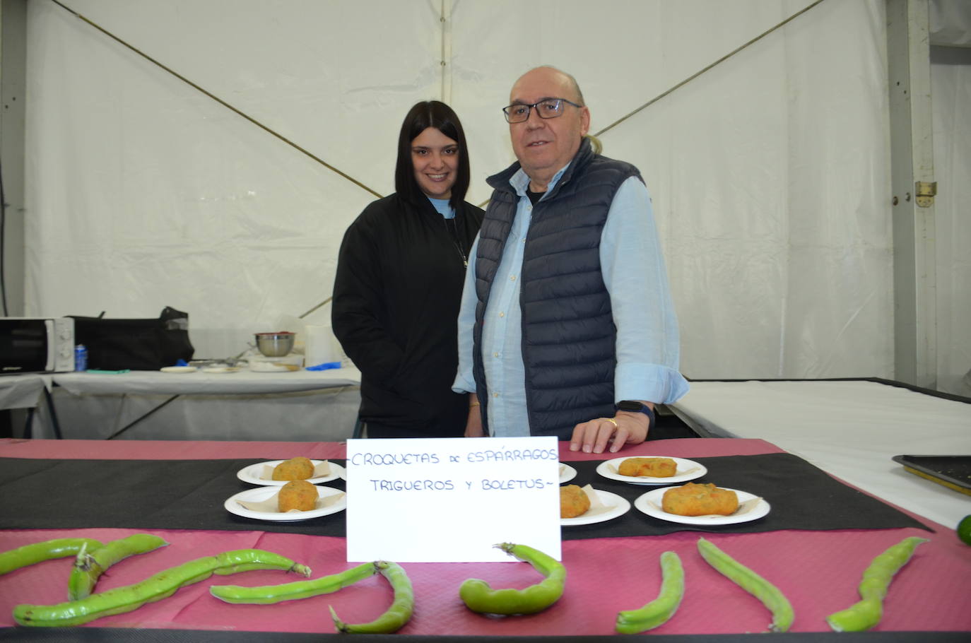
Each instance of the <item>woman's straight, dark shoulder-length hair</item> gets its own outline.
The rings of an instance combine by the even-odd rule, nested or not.
[[[455,168],[455,184],[449,205],[454,209],[465,200],[469,189],[469,152],[465,147],[465,132],[462,123],[452,108],[437,100],[416,103],[408,111],[401,123],[398,135],[398,163],[394,168],[394,189],[409,201],[419,203],[424,198],[418,181],[415,180],[415,164],[412,162],[412,141],[428,127],[434,127],[458,144],[458,167]]]

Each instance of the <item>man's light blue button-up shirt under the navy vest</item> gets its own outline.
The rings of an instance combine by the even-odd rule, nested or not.
[[[566,167],[552,178],[547,193],[563,176]],[[519,274],[533,206],[526,195],[529,177],[525,172],[519,169],[509,184],[519,195],[519,204],[485,306],[482,345],[488,428],[497,437],[529,435]],[[478,246],[476,237],[458,315],[458,373],[452,385],[455,392],[476,391],[472,374],[472,328],[476,321]],[[685,378],[678,372],[678,320],[657,239],[651,196],[636,177],[623,182],[614,195],[600,236],[600,263],[617,325],[614,374],[617,399],[614,401],[639,399],[670,403],[678,400],[688,389]]]

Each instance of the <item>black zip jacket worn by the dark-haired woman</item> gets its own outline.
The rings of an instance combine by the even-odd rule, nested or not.
[[[462,203],[456,240],[431,203],[397,194],[371,203],[344,235],[331,320],[361,371],[360,418],[403,434],[461,436],[468,397],[452,392],[458,367],[463,255],[483,211]]]

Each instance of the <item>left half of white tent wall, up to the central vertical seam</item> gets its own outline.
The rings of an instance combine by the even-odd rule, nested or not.
[[[438,86],[437,14],[387,2],[375,20],[363,4],[71,6],[387,193],[397,115]],[[30,310],[171,305],[196,355],[227,356],[330,294],[344,229],[373,194],[47,0],[29,4],[28,30]],[[360,62],[376,48],[393,55]]]

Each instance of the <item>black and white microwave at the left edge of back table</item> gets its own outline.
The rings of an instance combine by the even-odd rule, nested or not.
[[[73,319],[0,317],[0,375],[73,370]]]

